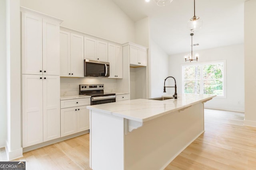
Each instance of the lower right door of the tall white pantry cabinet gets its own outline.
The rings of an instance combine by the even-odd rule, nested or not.
[[[60,137],[60,76],[43,76],[44,142]]]

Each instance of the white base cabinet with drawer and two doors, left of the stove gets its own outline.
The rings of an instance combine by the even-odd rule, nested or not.
[[[89,124],[89,109],[86,106],[74,106],[72,103],[79,104],[84,103],[86,106],[90,105],[90,98],[85,99],[71,99],[62,100],[60,109],[60,136],[64,137],[72,135],[77,132],[90,129]],[[64,103],[70,103],[71,105],[64,105]]]

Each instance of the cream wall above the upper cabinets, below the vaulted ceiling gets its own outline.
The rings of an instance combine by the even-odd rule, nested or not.
[[[134,22],[112,0],[20,0],[20,6],[64,20],[61,26],[126,43],[135,41]]]

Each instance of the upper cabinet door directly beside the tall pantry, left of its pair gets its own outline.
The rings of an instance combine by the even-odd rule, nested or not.
[[[70,33],[60,31],[60,76],[70,75]]]

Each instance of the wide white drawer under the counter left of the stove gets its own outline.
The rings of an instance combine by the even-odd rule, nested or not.
[[[91,105],[91,98],[85,99],[70,99],[70,100],[61,100],[60,108],[76,107],[76,106],[85,106]]]

